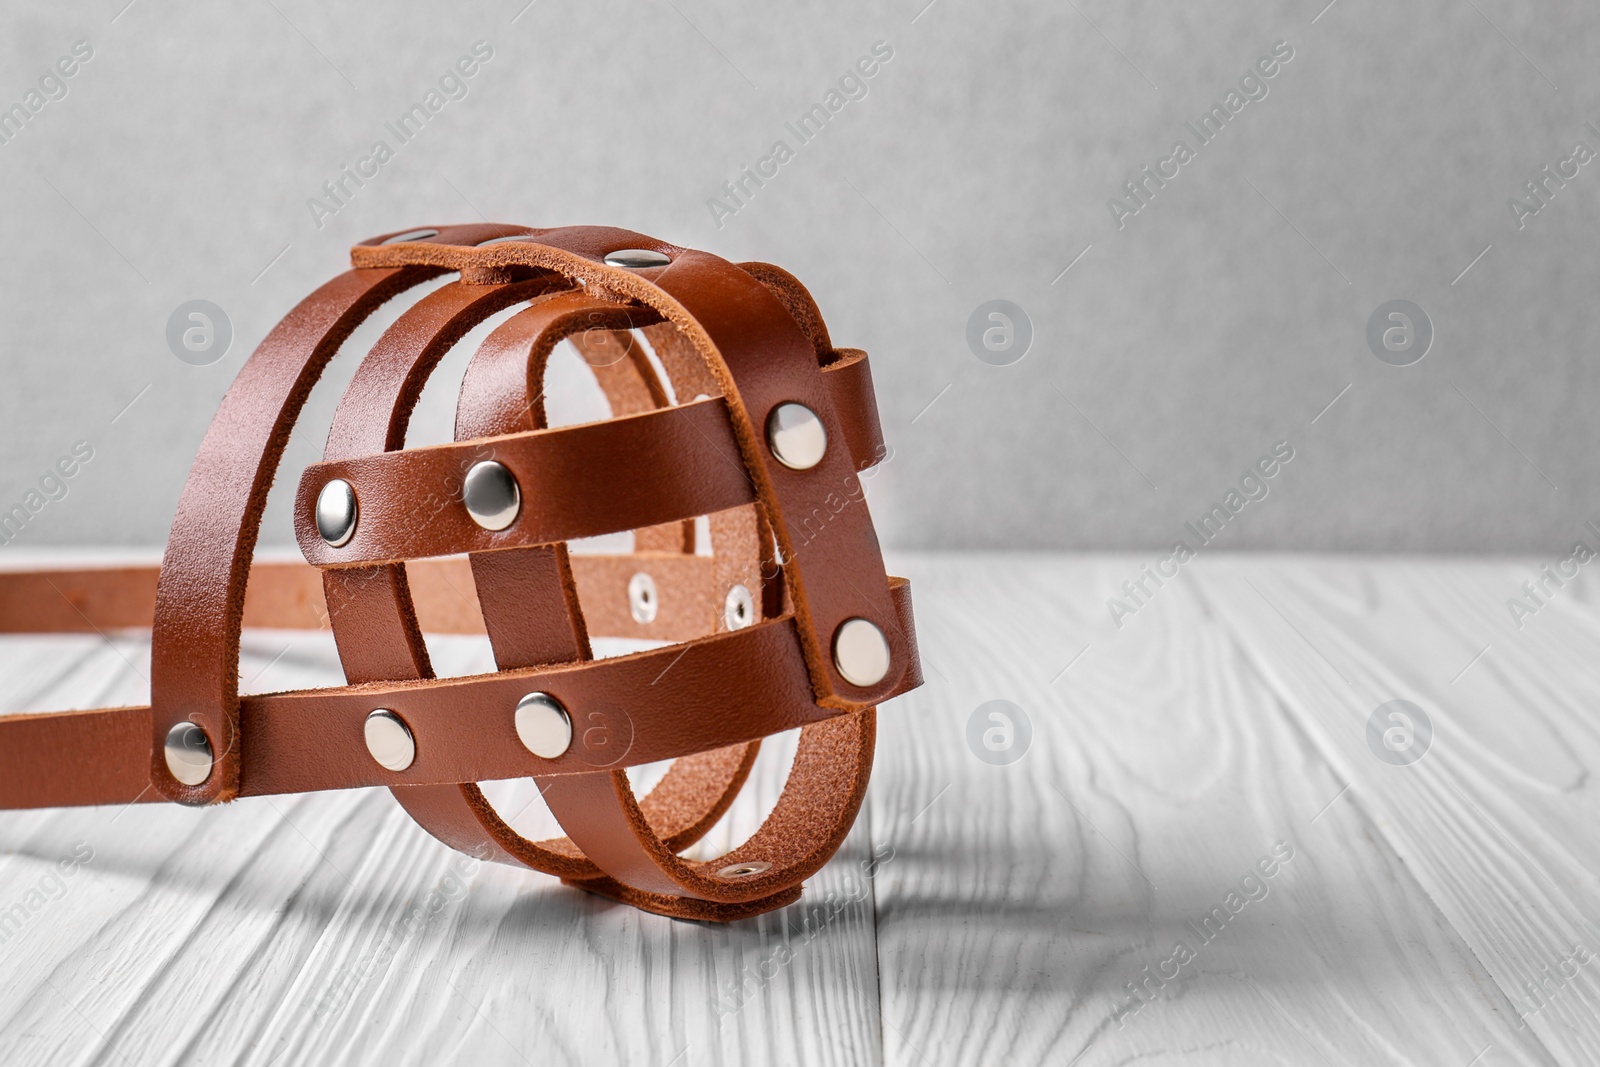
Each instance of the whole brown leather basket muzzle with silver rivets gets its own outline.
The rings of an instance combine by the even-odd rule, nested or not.
[[[667,264],[606,264],[618,250]],[[0,573],[3,632],[154,617],[149,709],[0,717],[0,805],[206,803],[386,784],[456,848],[646,910],[728,920],[797,899],[859,809],[874,704],[920,683],[909,589],[883,574],[856,482],[886,454],[864,354],[832,349],[787,272],[626,230],[440,227],[374,238],[352,261],[246,362],[202,445],[160,571]],[[406,310],[362,362],[325,462],[301,480],[296,534],[322,589],[302,565],[253,566],[266,490],[315,378],[376,307],[446,270],[459,282]],[[462,382],[458,443],[406,450],[411,408],[438,360],[518,304]],[[611,419],[546,429],[544,366],[562,339],[594,370]],[[766,418],[786,402],[826,427],[810,470],[766,448]],[[459,477],[483,458],[522,486],[523,510],[504,531],[480,530],[459,506]],[[312,522],[333,477],[360,498],[357,536],[341,549]],[[699,515],[710,555],[696,544]],[[630,555],[566,552],[570,539],[629,528]],[[635,617],[627,589],[638,573],[659,598]],[[723,617],[736,585],[750,590],[749,625]],[[886,635],[891,670],[878,683],[853,685],[832,662],[832,635],[850,617]],[[331,625],[349,685],[240,699],[246,624]],[[424,630],[486,632],[499,670],[432,678]],[[686,643],[594,661],[590,630]],[[528,691],[573,715],[573,744],[554,760],[517,739],[510,709]],[[411,731],[416,758],[403,771],[366,752],[374,707]],[[197,787],[176,782],[162,755],[186,720],[216,757]],[[802,736],[790,781],[762,829],[717,861],[680,859],[733,803],[760,737],[792,728]],[[621,768],[667,758],[666,777],[635,798]],[[475,784],[523,774],[539,781],[566,838],[522,838]]]

